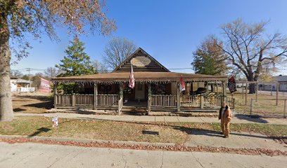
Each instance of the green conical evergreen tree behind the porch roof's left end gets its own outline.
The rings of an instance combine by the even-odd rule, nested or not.
[[[58,76],[81,76],[97,73],[89,55],[84,52],[84,43],[75,36],[70,44],[65,50],[66,56],[60,60],[61,64],[56,65],[60,71],[63,71]]]

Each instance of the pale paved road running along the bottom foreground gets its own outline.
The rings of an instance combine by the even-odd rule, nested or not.
[[[287,157],[0,143],[0,167],[284,167]]]

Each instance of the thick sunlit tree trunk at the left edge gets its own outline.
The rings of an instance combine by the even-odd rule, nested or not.
[[[10,84],[10,60],[11,51],[9,48],[9,29],[7,16],[0,18],[0,121],[13,119],[13,108],[11,99]]]

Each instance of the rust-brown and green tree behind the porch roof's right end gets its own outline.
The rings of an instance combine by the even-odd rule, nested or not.
[[[195,73],[218,75],[227,73],[229,69],[224,53],[219,50],[216,38],[210,36],[193,52],[193,70]]]

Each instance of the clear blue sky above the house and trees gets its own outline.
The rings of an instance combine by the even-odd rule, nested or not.
[[[129,38],[168,69],[191,68],[192,52],[209,34],[220,34],[220,25],[242,18],[245,22],[270,20],[269,33],[287,34],[286,0],[122,0],[107,1],[108,17],[117,24],[111,36],[81,36],[91,59],[101,61],[103,48],[113,36]],[[42,43],[27,38],[33,46],[30,56],[12,69],[46,69],[64,56],[72,36],[58,29],[60,42],[42,36]],[[192,73],[191,69],[174,70]],[[281,71],[280,73],[286,73]],[[25,73],[25,72],[23,72]]]

